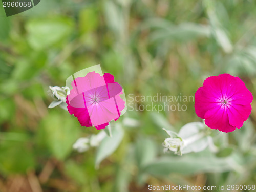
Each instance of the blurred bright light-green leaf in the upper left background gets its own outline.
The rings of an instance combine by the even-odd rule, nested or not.
[[[34,49],[46,49],[67,37],[73,29],[70,18],[32,19],[26,25],[28,42]]]

